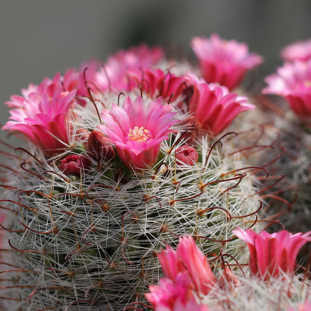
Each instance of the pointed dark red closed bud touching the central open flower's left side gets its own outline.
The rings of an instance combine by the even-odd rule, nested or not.
[[[109,161],[115,156],[114,148],[107,142],[107,136],[100,131],[93,130],[86,145],[87,154],[99,162]]]

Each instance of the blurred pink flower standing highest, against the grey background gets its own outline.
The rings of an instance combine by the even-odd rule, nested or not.
[[[263,62],[261,56],[248,52],[247,44],[222,40],[217,34],[212,34],[210,39],[194,37],[190,45],[207,83],[218,82],[230,91],[239,85],[249,69]]]

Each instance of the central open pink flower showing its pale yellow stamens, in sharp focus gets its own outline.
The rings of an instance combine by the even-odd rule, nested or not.
[[[118,155],[128,168],[142,169],[156,163],[163,140],[175,130],[169,129],[180,120],[172,120],[176,112],[157,98],[145,107],[140,96],[133,102],[127,97],[122,108],[112,105],[103,109],[101,116],[106,125],[98,125],[116,145]]]

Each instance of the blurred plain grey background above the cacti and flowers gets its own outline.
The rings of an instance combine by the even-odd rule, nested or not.
[[[0,0],[2,104],[29,82],[64,73],[119,48],[170,41],[190,53],[194,35],[218,32],[265,57],[264,76],[281,64],[279,50],[311,37],[311,0]],[[0,131],[0,138],[7,134]],[[11,137],[10,142],[14,143]]]

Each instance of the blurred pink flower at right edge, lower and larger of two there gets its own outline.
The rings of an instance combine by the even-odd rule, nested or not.
[[[276,72],[264,79],[268,85],[262,93],[285,97],[299,118],[311,118],[311,59],[284,63]]]

